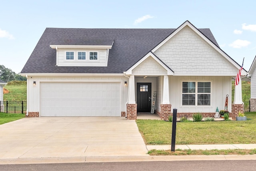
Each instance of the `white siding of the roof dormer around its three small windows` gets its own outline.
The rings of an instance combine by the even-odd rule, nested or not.
[[[74,52],[74,60],[66,60],[66,52]],[[78,60],[77,53],[86,52],[86,60]],[[90,52],[98,52],[98,60],[90,60]],[[59,49],[57,66],[107,66],[106,49]]]

